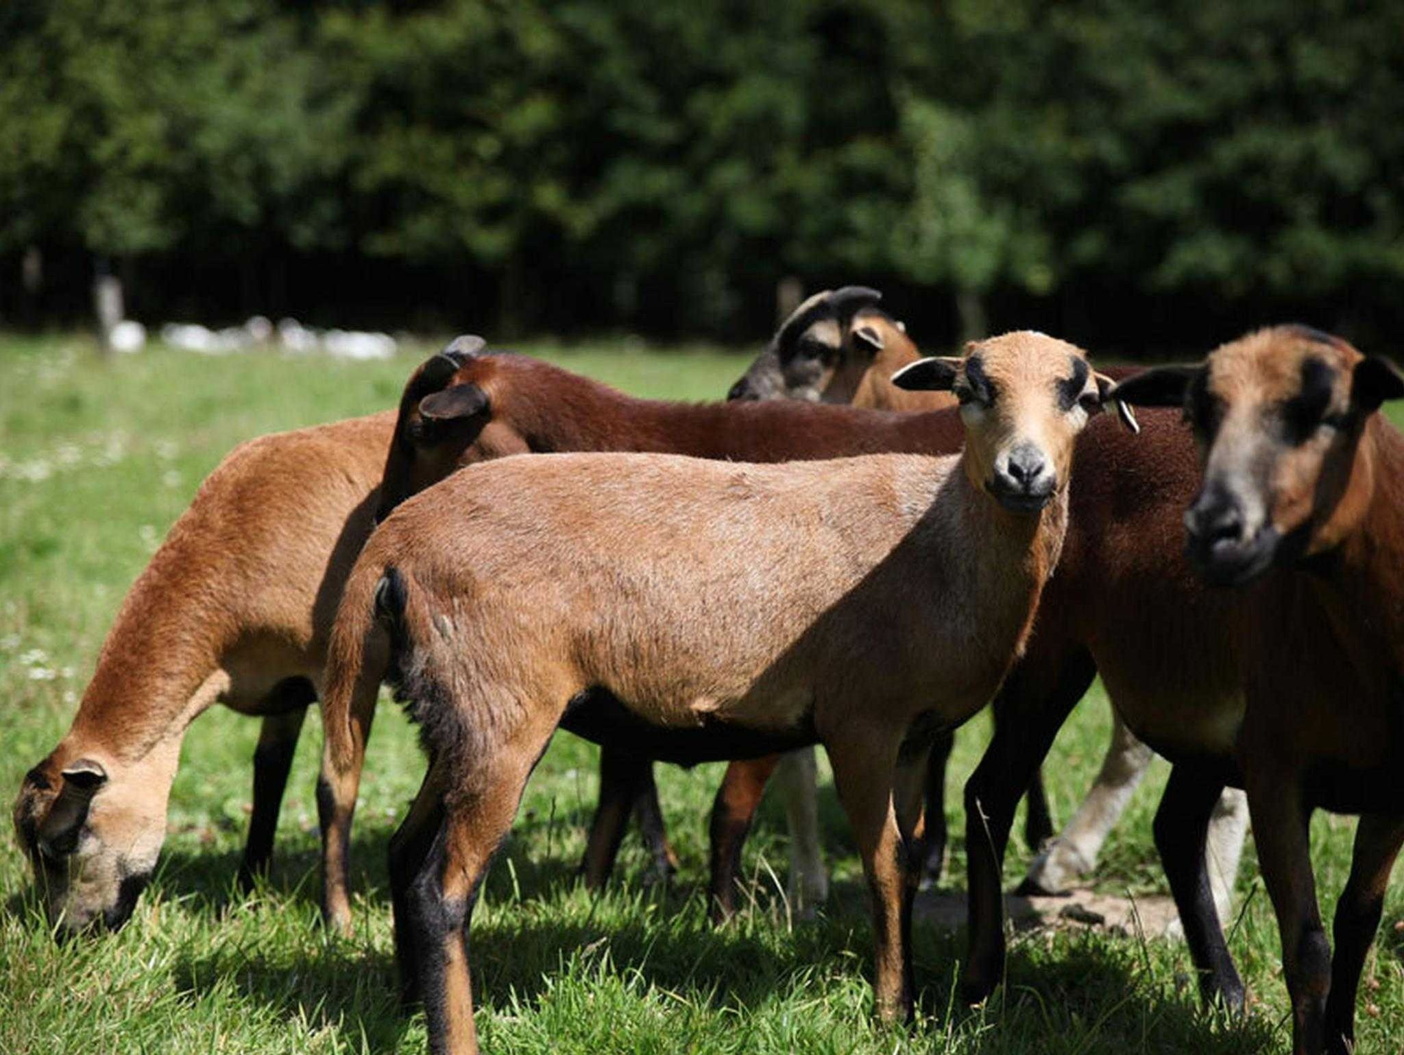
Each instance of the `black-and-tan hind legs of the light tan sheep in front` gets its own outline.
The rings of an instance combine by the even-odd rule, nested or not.
[[[555,721],[528,714],[515,730],[494,730],[491,742],[477,740],[452,764],[437,759],[392,857],[402,992],[424,1007],[431,1052],[477,1051],[468,955],[473,905],[553,730]]]

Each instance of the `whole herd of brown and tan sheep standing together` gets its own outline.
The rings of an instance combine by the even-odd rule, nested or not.
[[[1154,750],[1172,763],[1155,846],[1203,997],[1244,1004],[1221,923],[1251,816],[1294,1051],[1346,1052],[1404,844],[1404,437],[1376,413],[1401,396],[1389,361],[1299,326],[1141,372],[1098,372],[1033,332],[920,358],[861,287],[800,305],[717,403],[633,399],[461,337],[397,410],[253,440],[211,473],[25,775],[20,843],[56,933],[122,926],[184,730],[222,702],[263,719],[251,879],[320,701],[323,912],[345,929],[388,683],[428,760],[389,851],[402,989],[431,1051],[472,1052],[473,902],[557,728],[601,746],[591,886],[630,816],[675,867],[654,761],[730,763],[710,822],[719,920],[776,774],[790,898],[824,900],[823,745],[872,896],[875,1009],[903,1017],[951,736],[993,704],[965,791],[965,999],[1004,978],[1019,798],[1045,844],[1026,886],[1059,889]],[[1112,745],[1047,839],[1039,766],[1097,676]],[[1334,954],[1318,808],[1360,815]]]

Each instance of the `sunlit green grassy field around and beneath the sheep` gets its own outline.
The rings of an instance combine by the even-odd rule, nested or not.
[[[0,340],[0,788],[62,736],[128,584],[237,441],[392,406],[425,348],[393,362],[275,354],[204,358],[156,348],[114,364],[80,339]],[[534,347],[563,365],[649,396],[719,396],[746,354],[660,355],[621,346]],[[190,730],[156,881],[117,936],[56,947],[27,896],[28,868],[0,850],[0,1052],[417,1052],[421,1018],[396,1007],[385,847],[423,763],[407,723],[382,707],[354,843],[357,933],[316,926],[316,722],[299,749],[268,882],[233,885],[250,799],[257,723],[215,708]],[[1094,691],[1046,767],[1066,819],[1106,742]],[[958,791],[987,736],[960,735]],[[1251,847],[1247,909],[1230,945],[1248,982],[1240,1021],[1202,1011],[1181,945],[1092,930],[1016,934],[1008,983],[960,1007],[959,934],[918,927],[918,1021],[869,1017],[870,933],[852,843],[823,798],[835,893],[814,923],[790,924],[783,822],[767,804],[747,847],[751,896],[740,919],[705,920],[705,816],[720,767],[667,768],[658,784],[681,875],[646,885],[636,837],[600,898],[574,881],[595,795],[595,749],[562,733],[534,777],[517,829],[475,919],[479,1028],[498,1052],[1116,1052],[1275,1051],[1287,1044],[1286,993],[1271,907]],[[1150,818],[1158,767],[1104,854],[1109,892],[1164,891]],[[948,882],[963,885],[959,794]],[[1351,819],[1313,830],[1323,909],[1345,881]],[[1015,843],[1008,879],[1028,854]],[[1404,1047],[1404,900],[1386,906],[1359,1009],[1362,1051]]]

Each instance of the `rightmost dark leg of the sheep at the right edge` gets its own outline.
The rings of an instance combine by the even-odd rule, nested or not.
[[[1335,905],[1335,957],[1331,959],[1331,992],[1325,1000],[1325,1040],[1332,1055],[1355,1049],[1355,997],[1360,971],[1380,927],[1384,892],[1400,847],[1404,818],[1366,813],[1355,830],[1351,878]]]

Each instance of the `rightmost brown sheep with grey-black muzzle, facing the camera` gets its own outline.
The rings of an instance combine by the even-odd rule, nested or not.
[[[1376,413],[1404,398],[1404,376],[1337,337],[1279,326],[1203,364],[1147,371],[1118,393],[1184,407],[1200,443],[1188,549],[1205,579],[1237,587],[1227,593],[1241,604],[1244,687],[1219,712],[1181,709],[1174,730],[1154,714],[1126,719],[1153,746],[1170,735],[1182,756],[1171,781],[1196,785],[1202,809],[1224,781],[1247,789],[1293,1048],[1344,1055],[1404,844],[1404,437]],[[1316,809],[1360,815],[1334,958],[1311,870]],[[1219,920],[1196,893],[1175,889],[1182,916],[1199,910],[1185,919],[1196,966],[1231,974]]]

